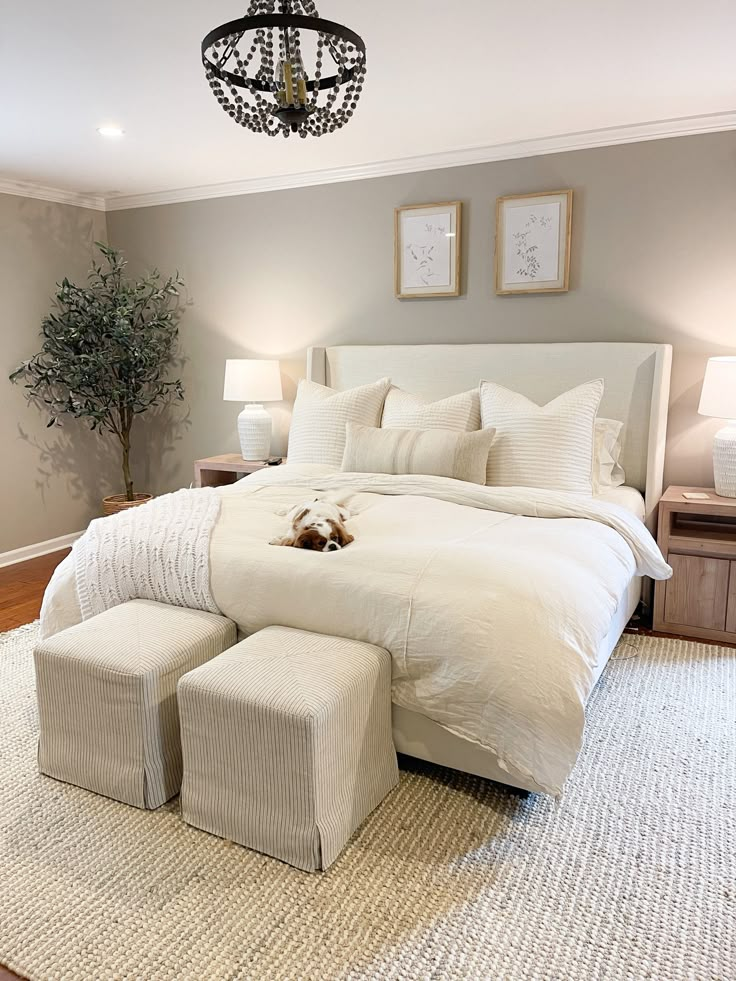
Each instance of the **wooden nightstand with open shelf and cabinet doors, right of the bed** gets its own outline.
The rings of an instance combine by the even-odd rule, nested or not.
[[[708,500],[688,501],[683,491]],[[657,541],[673,576],[654,590],[654,629],[736,643],[736,498],[668,487]]]

